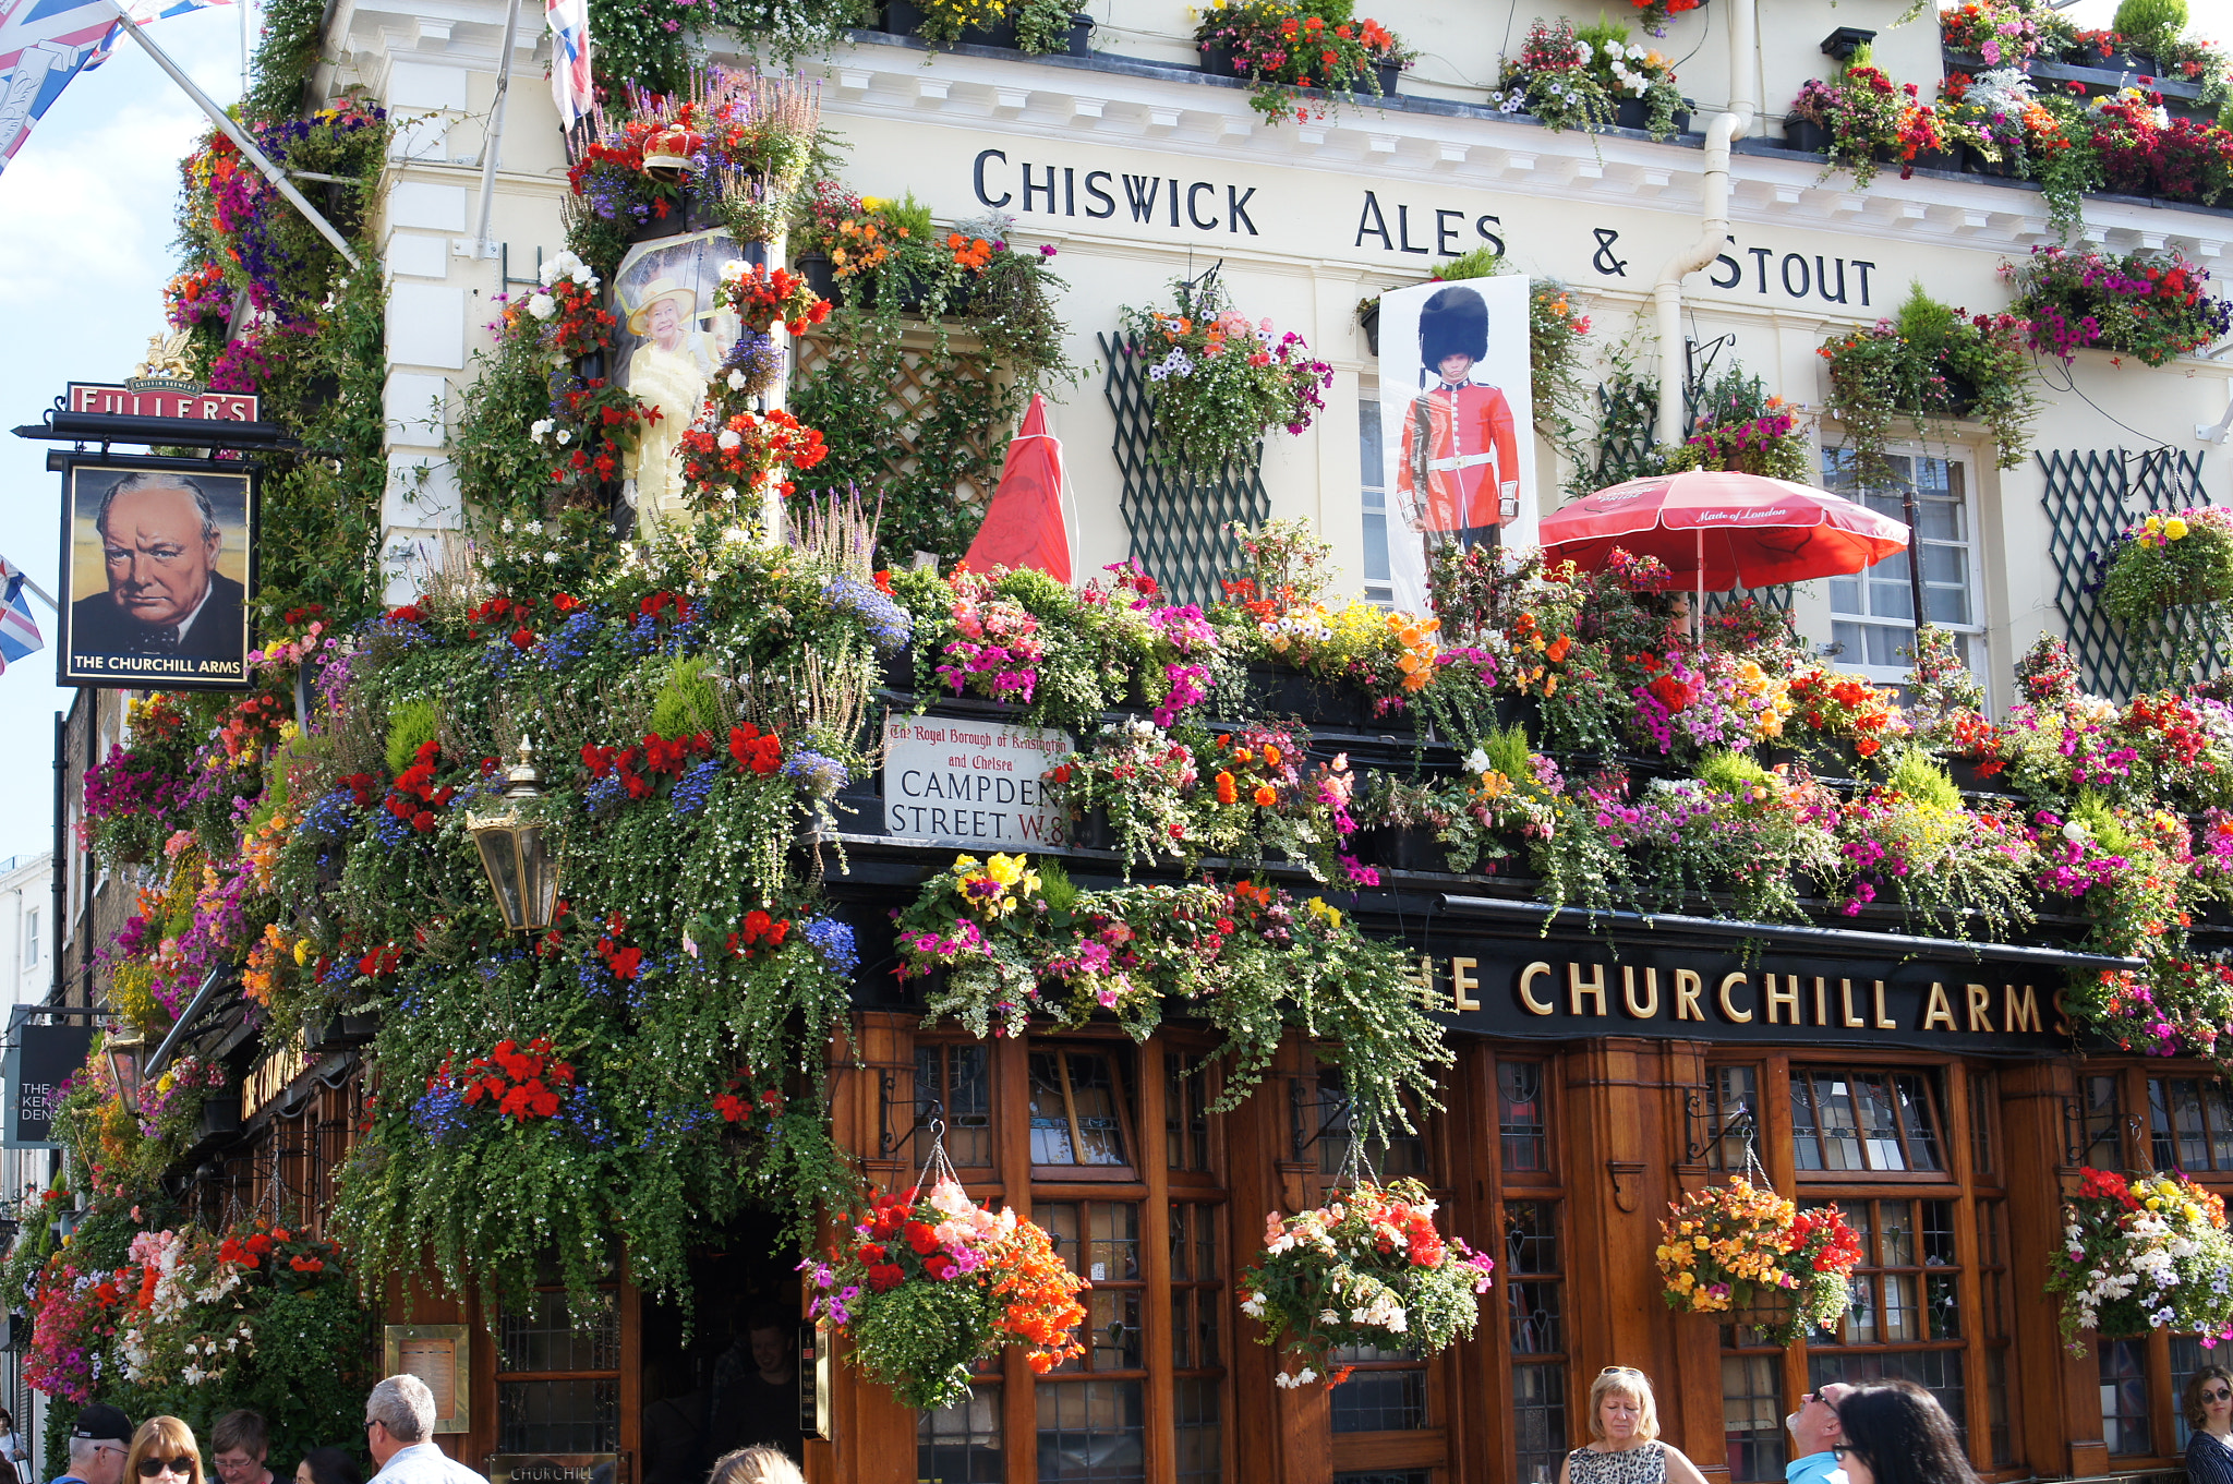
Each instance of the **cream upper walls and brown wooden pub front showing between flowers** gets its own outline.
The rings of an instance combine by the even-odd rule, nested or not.
[[[1360,297],[1496,245],[1530,274],[1568,281],[1599,339],[1626,344],[1639,366],[1679,373],[1722,341],[1771,391],[1820,406],[1822,339],[1891,312],[1911,281],[1999,310],[2001,261],[2050,241],[2045,208],[2021,183],[1887,170],[1853,190],[1780,147],[1784,100],[1831,67],[1820,40],[1836,27],[1880,27],[1876,58],[1896,78],[1940,76],[1936,33],[1927,20],[1894,27],[1896,0],[1722,0],[1657,42],[1686,58],[1702,121],[1733,98],[1755,114],[1728,163],[1733,239],[1681,288],[1684,344],[1655,339],[1648,299],[1666,259],[1699,237],[1713,185],[1702,138],[1554,134],[1498,114],[1485,87],[1525,16],[1507,27],[1465,4],[1380,7],[1427,51],[1400,96],[1268,125],[1244,87],[1195,65],[1181,0],[1087,9],[1087,56],[931,54],[864,29],[799,60],[822,87],[822,123],[851,145],[849,185],[913,192],[940,225],[1009,212],[1018,241],[1058,248],[1067,348],[1090,368],[1050,408],[1079,571],[1139,545],[1114,455],[1112,357],[1096,337],[1119,306],[1159,301],[1170,279],[1210,263],[1246,312],[1300,330],[1335,370],[1317,424],[1266,449],[1262,513],[1311,518],[1335,547],[1340,587],[1384,598],[1387,547],[1402,531],[1376,473],[1380,364]],[[393,600],[415,591],[456,524],[451,428],[424,408],[473,375],[491,299],[520,292],[563,243],[560,129],[529,85],[549,56],[536,25],[502,58],[514,80],[493,172],[502,252],[476,254],[460,237],[473,230],[502,36],[496,0],[357,0],[333,7],[326,29],[317,87],[362,87],[400,125],[380,205]],[[717,38],[710,49],[737,60]],[[2099,199],[2086,237],[2175,245],[2222,272],[2233,219]],[[1963,636],[1994,707],[2010,701],[2012,658],[2077,623],[2063,553],[2079,486],[2059,471],[2072,460],[2128,471],[2130,511],[2224,500],[2224,453],[2197,431],[2226,411],[2229,377],[2211,359],[2148,370],[2088,350],[2041,388],[2039,449],[2052,457],[2001,471],[1985,428],[1967,422],[1934,424],[1900,451],[1925,511],[1929,614]],[[1813,437],[1836,478],[1838,426],[1818,422]],[[2155,446],[2168,453],[2137,457]],[[1572,471],[1543,440],[1536,471],[1534,500],[1554,509]],[[1898,493],[1869,498],[1896,511]],[[1882,569],[1802,587],[1793,611],[1800,632],[1842,645],[1840,667],[1894,681],[1905,594],[1905,571]],[[985,716],[960,703],[938,712]],[[1358,736],[1358,752],[1376,741]],[[1409,754],[1409,741],[1389,745]],[[1213,1038],[1186,1020],[1146,1044],[1114,1027],[1023,1040],[924,1027],[873,928],[951,859],[953,846],[871,823],[851,841],[851,873],[831,879],[864,935],[851,1042],[831,1060],[835,1131],[878,1187],[904,1187],[940,1120],[969,1194],[1029,1214],[1092,1281],[1087,1350],[1050,1375],[1009,1352],[967,1406],[933,1415],[817,1355],[802,1363],[808,1381],[824,1377],[820,1395],[802,1388],[815,1484],[1547,1484],[1588,1439],[1588,1388],[1612,1363],[1655,1379],[1664,1437],[1717,1484],[1782,1477],[1782,1417],[1802,1390],[1880,1377],[1929,1386],[1994,1484],[2137,1475],[2175,1466],[2177,1390],[2226,1359],[2175,1334],[2063,1350],[2041,1281],[2074,1172],[2177,1165],[2233,1189],[2233,1107],[2206,1064],[2070,1040],[2059,989],[2097,964],[2059,946],[2054,924],[1978,951],[1867,915],[1849,931],[1574,913],[1545,924],[1496,881],[1391,873],[1355,910],[1416,948],[1456,1060],[1440,1107],[1418,1109],[1418,1131],[1371,1158],[1436,1192],[1443,1230],[1496,1259],[1496,1285],[1476,1334],[1436,1359],[1358,1355],[1340,1388],[1280,1390],[1237,1283],[1266,1212],[1317,1203],[1349,1160],[1338,1069],[1291,1042],[1235,1111],[1208,1114],[1215,1069],[1188,1073]],[[1103,884],[1096,870],[1114,877],[1105,857],[1072,868],[1090,886]],[[255,1047],[248,1029],[228,1035],[221,1051],[252,1073],[239,1129],[199,1156],[194,1189],[223,1210],[270,1201],[277,1185],[322,1212],[373,1093],[364,1035],[346,1022],[284,1049]],[[1802,1205],[1836,1201],[1865,1247],[1847,1321],[1791,1350],[1670,1314],[1652,1261],[1668,1203],[1755,1158]],[[701,1256],[692,1314],[639,1294],[621,1270],[592,1332],[569,1328],[556,1290],[491,1314],[427,1281],[391,1294],[391,1341],[460,1337],[440,1435],[458,1457],[502,1459],[516,1477],[610,1466],[616,1484],[663,1484],[668,1430],[701,1406],[717,1357],[753,1314],[802,1314],[797,1254],[775,1243],[777,1227],[777,1214],[744,1221]]]

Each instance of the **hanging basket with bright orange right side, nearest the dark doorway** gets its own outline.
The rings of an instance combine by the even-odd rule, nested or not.
[[[815,1283],[811,1312],[900,1404],[927,1413],[967,1399],[971,1368],[1000,1346],[1027,1346],[1038,1372],[1083,1355],[1085,1283],[1045,1227],[974,1203],[951,1176],[929,1194],[878,1196],[853,1239],[835,1263],[799,1263]]]

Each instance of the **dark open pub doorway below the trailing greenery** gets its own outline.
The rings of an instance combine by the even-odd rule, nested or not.
[[[703,1484],[717,1457],[753,1444],[802,1462],[813,1361],[797,1261],[784,1218],[748,1210],[690,1256],[688,1301],[643,1297],[641,1484]]]

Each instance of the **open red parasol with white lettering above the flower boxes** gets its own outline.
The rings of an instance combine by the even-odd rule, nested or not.
[[[1601,571],[1655,556],[1677,587],[1728,591],[1862,571],[1907,549],[1907,527],[1827,489],[1693,469],[1612,484],[1543,518],[1545,556]]]

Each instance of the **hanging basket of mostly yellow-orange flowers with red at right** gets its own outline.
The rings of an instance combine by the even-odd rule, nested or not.
[[[1844,1314],[1860,1239],[1836,1205],[1802,1212],[1737,1178],[1668,1210],[1657,1256],[1670,1310],[1753,1326],[1786,1348]]]

